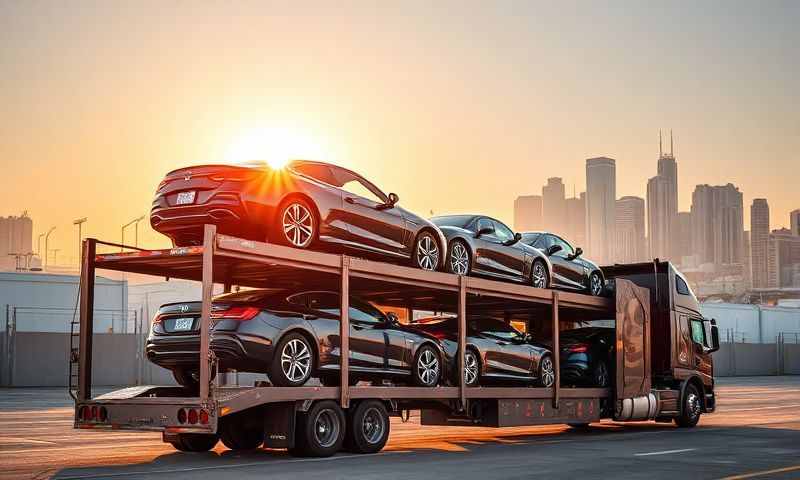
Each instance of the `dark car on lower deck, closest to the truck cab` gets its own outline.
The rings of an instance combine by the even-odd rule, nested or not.
[[[585,327],[561,332],[561,380],[564,384],[607,387],[614,372],[615,330]]]

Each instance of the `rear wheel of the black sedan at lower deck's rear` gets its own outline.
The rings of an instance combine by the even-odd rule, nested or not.
[[[276,387],[299,387],[314,371],[314,349],[308,339],[296,332],[281,338],[272,354],[269,379]]]

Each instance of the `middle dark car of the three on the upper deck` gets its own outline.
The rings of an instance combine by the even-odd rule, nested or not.
[[[551,286],[552,265],[539,249],[522,242],[503,222],[483,215],[445,215],[431,221],[448,242],[445,268],[458,275],[480,275]]]

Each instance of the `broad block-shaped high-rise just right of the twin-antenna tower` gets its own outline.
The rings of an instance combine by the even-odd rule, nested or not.
[[[697,263],[744,263],[744,207],[733,184],[698,185],[692,193],[692,250]]]

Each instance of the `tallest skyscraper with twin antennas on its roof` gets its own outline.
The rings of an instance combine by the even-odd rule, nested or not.
[[[658,174],[647,182],[647,236],[652,258],[678,257],[678,164],[673,153],[672,132],[669,153],[661,146],[658,132]]]

